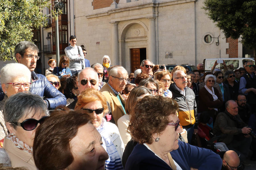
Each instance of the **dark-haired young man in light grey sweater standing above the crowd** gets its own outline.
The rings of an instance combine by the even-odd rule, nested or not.
[[[69,68],[72,75],[76,75],[84,68],[84,54],[80,46],[76,46],[77,37],[69,37],[70,46],[65,48],[65,54],[69,58]]]

